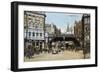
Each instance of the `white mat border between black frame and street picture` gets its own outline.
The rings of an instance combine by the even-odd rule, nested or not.
[[[42,62],[24,62],[24,20],[23,11],[53,11],[53,12],[72,12],[72,13],[89,13],[91,15],[91,59],[80,60],[63,60],[63,61],[42,61]],[[48,7],[48,6],[18,6],[18,68],[36,68],[36,67],[52,67],[52,66],[73,66],[95,64],[95,9],[81,8],[63,8],[63,7]]]

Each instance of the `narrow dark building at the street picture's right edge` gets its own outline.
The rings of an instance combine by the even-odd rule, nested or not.
[[[83,47],[86,52],[90,52],[90,15],[83,14],[82,16],[82,26],[83,26]]]

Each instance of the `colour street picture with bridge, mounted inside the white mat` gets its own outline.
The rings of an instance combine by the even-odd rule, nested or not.
[[[90,14],[24,11],[24,62],[90,59]]]

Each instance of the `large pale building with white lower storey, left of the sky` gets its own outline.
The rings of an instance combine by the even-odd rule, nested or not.
[[[24,39],[34,47],[44,48],[45,17],[42,12],[24,11]]]

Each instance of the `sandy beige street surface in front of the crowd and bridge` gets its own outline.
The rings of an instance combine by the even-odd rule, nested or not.
[[[71,59],[83,59],[83,51],[62,51],[58,54],[52,53],[41,53],[39,55],[34,55],[32,58],[24,58],[25,62],[34,62],[34,61],[50,61],[50,60],[71,60]],[[87,58],[89,58],[89,54],[87,54]]]

